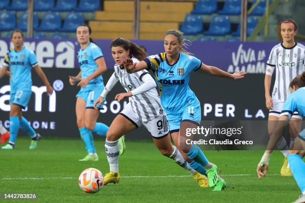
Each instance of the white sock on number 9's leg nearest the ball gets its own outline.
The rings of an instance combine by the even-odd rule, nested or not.
[[[114,173],[118,173],[119,172],[119,154],[120,154],[118,140],[108,141],[106,139],[105,150],[106,150],[106,155],[107,155],[107,160],[109,163],[110,171],[112,171]]]

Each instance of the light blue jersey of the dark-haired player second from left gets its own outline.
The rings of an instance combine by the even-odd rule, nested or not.
[[[77,58],[82,71],[82,78],[87,78],[96,71],[98,65],[95,63],[95,60],[101,57],[103,57],[102,50],[92,42],[84,50],[80,49],[78,51]],[[102,76],[91,80],[85,88],[81,88],[81,92],[91,91],[97,87],[104,87]]]

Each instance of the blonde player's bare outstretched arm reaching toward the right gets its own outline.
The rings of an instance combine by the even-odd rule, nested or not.
[[[239,72],[236,72],[234,74],[231,74],[231,73],[225,72],[225,71],[223,71],[223,70],[221,70],[221,69],[219,69],[215,66],[205,65],[204,63],[201,63],[200,70],[203,73],[209,74],[211,76],[231,78],[231,79],[234,79],[234,80],[239,80],[239,79],[245,78],[245,76],[247,74],[246,72],[243,72],[243,71],[239,71]]]

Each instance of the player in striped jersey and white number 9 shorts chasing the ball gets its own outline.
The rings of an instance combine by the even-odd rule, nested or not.
[[[190,168],[177,148],[172,146],[166,114],[160,104],[160,98],[155,89],[156,84],[148,71],[143,70],[129,74],[123,67],[126,58],[139,62],[139,60],[146,58],[146,52],[123,38],[113,40],[110,46],[116,62],[114,73],[94,105],[96,107],[97,104],[101,104],[118,81],[127,93],[118,94],[115,99],[120,102],[124,98],[129,98],[129,103],[113,120],[107,133],[105,147],[110,172],[104,176],[104,184],[119,183],[120,181],[118,139],[123,134],[143,124],[151,132],[154,144],[164,156],[170,157],[178,165],[188,170],[201,187],[208,187],[207,178]],[[132,58],[133,56],[135,58]]]

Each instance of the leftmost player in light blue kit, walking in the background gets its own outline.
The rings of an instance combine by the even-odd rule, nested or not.
[[[34,131],[28,121],[22,116],[21,109],[24,109],[32,94],[31,69],[34,68],[38,76],[46,86],[48,95],[53,93],[48,79],[44,75],[37,63],[34,52],[23,46],[23,34],[20,30],[14,30],[11,35],[11,42],[14,48],[9,50],[4,58],[4,64],[0,71],[0,78],[6,73],[7,68],[10,72],[10,138],[8,144],[2,149],[14,149],[19,127],[31,138],[29,149],[35,149],[40,135]]]

